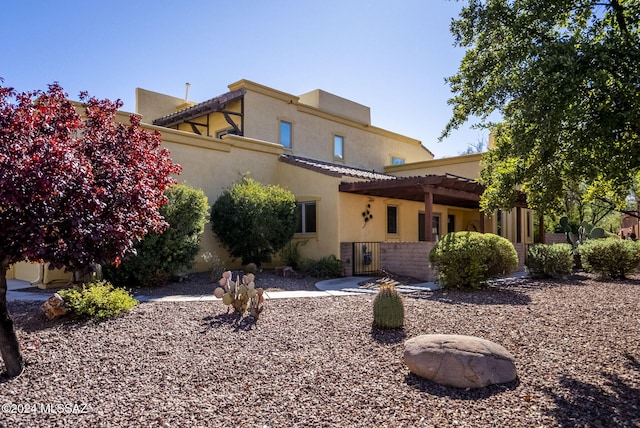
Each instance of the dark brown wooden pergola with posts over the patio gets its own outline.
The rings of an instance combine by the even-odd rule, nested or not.
[[[339,190],[367,196],[424,202],[425,239],[433,241],[433,231],[430,227],[433,205],[479,209],[480,195],[484,192],[484,186],[475,180],[445,174],[398,177],[392,180],[343,182],[340,184]],[[516,204],[518,220],[520,208],[524,207],[526,207],[526,198],[521,193]],[[484,231],[484,213],[480,211],[480,232],[484,233]],[[518,233],[518,237],[520,237],[520,233]]]

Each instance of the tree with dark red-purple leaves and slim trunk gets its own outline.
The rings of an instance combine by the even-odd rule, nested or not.
[[[120,101],[80,98],[84,119],[58,84],[26,93],[0,84],[0,353],[11,377],[24,365],[7,308],[9,266],[118,263],[148,231],[166,228],[159,207],[181,171],[137,116],[115,122]]]

